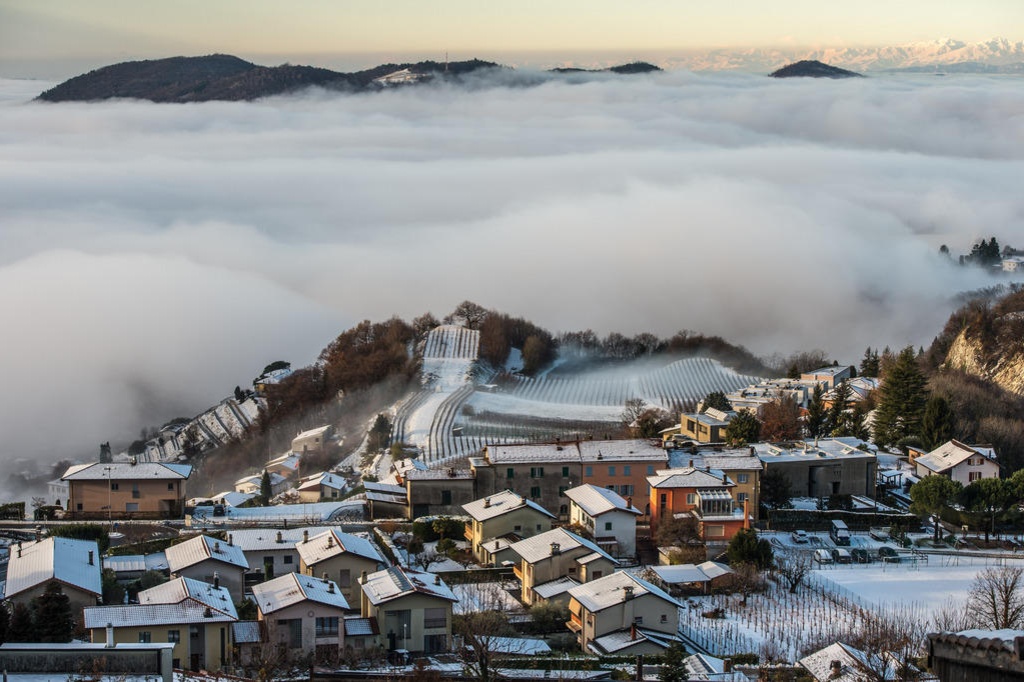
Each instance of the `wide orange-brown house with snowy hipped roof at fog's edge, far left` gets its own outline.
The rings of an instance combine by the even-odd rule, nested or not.
[[[71,518],[181,518],[184,515],[187,464],[94,462],[69,467]]]

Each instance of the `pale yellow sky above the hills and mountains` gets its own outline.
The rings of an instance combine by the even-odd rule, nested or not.
[[[1021,0],[0,0],[0,67],[210,52],[282,61],[445,51],[453,58],[573,50],[642,58],[645,50],[708,47],[1020,40],[1022,29]]]

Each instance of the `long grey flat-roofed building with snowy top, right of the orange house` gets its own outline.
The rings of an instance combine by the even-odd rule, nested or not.
[[[822,438],[797,444],[758,442],[752,445],[764,465],[762,477],[778,471],[798,498],[859,495],[874,499],[878,460],[859,438]]]

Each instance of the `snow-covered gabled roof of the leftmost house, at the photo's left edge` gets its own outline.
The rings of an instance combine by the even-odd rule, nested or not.
[[[90,562],[91,559],[91,562]],[[99,547],[94,540],[45,538],[10,546],[4,598],[56,580],[101,594]]]

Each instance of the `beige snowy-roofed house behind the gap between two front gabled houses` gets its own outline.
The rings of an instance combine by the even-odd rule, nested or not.
[[[295,549],[299,553],[299,572],[335,581],[349,604],[359,603],[356,579],[385,565],[373,543],[337,528],[317,536],[303,530]]]

